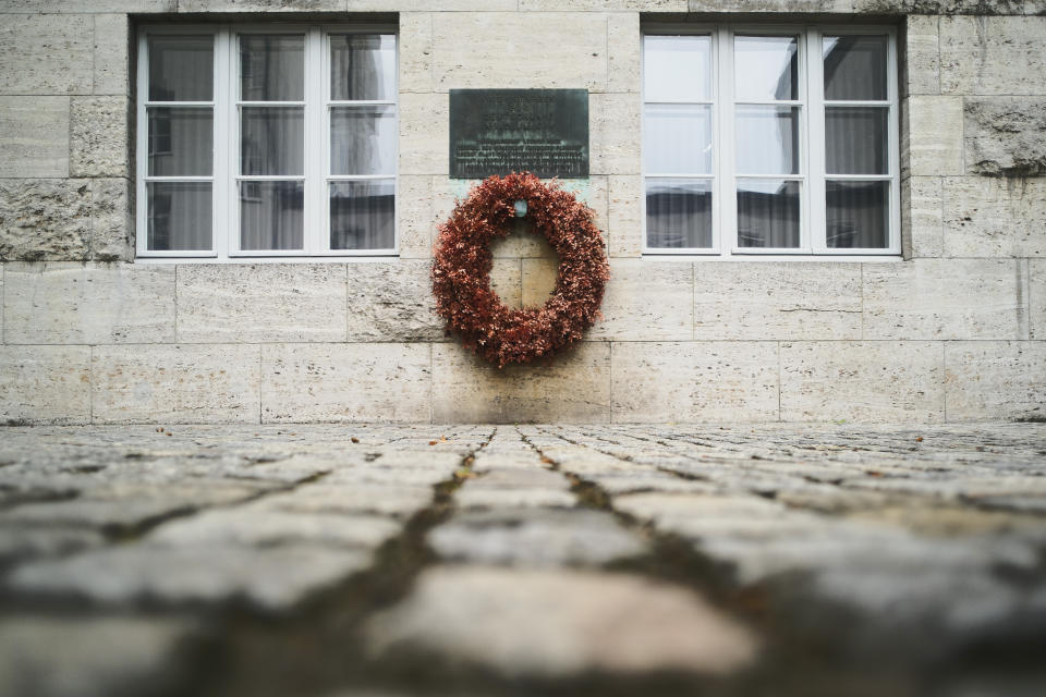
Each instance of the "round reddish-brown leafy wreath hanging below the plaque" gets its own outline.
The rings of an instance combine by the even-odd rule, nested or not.
[[[490,289],[490,243],[525,201],[525,216],[559,255],[552,296],[542,307],[510,309]],[[522,206],[520,206],[522,208]],[[436,310],[464,345],[499,368],[550,356],[600,318],[610,267],[591,208],[530,172],[490,176],[458,201],[439,227],[433,262]]]

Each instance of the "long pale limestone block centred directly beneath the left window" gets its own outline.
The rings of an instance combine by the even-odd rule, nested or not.
[[[178,340],[344,341],[345,266],[178,267]]]

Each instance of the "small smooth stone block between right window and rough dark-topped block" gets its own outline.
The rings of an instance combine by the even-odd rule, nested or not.
[[[901,160],[907,174],[962,174],[962,99],[916,95],[901,105]]]

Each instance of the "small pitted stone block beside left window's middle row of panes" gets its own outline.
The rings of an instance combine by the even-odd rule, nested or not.
[[[69,173],[127,176],[130,118],[125,97],[74,97],[70,109]]]

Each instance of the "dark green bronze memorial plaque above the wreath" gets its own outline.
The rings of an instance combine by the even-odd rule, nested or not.
[[[588,90],[451,89],[450,175],[588,176]]]

